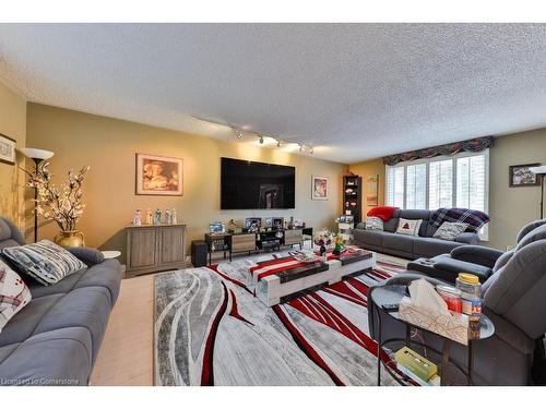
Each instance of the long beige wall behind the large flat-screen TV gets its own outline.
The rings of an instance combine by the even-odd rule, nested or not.
[[[175,207],[189,228],[188,239],[202,239],[213,220],[239,226],[250,216],[295,216],[309,226],[334,227],[341,212],[341,179],[344,165],[294,155],[249,143],[229,143],[133,122],[98,117],[38,104],[27,107],[27,143],[55,152],[51,170],[61,182],[70,168],[90,165],[84,183],[86,213],[80,229],[86,244],[123,250],[124,233],[134,209]],[[139,196],[134,194],[135,153],[183,159],[183,196]],[[221,210],[219,158],[222,156],[296,167],[296,209]],[[311,200],[311,176],[330,178],[330,200]],[[39,231],[52,238],[55,224]]]

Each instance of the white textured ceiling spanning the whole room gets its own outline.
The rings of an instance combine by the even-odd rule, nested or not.
[[[0,24],[29,100],[341,163],[546,127],[544,24]],[[248,140],[248,139],[246,139]]]

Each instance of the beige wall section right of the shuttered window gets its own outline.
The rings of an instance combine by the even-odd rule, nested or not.
[[[508,167],[541,163],[546,165],[546,129],[500,136],[489,152],[488,245],[505,250],[529,221],[539,217],[541,188],[509,188]]]

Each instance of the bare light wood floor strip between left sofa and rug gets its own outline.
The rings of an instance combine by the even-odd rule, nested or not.
[[[153,385],[153,274],[121,281],[91,385]]]

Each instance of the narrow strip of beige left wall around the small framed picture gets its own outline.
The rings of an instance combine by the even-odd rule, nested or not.
[[[0,133],[25,146],[26,99],[0,82]],[[0,216],[13,220],[24,228],[24,157],[17,153],[15,166],[0,163]]]

